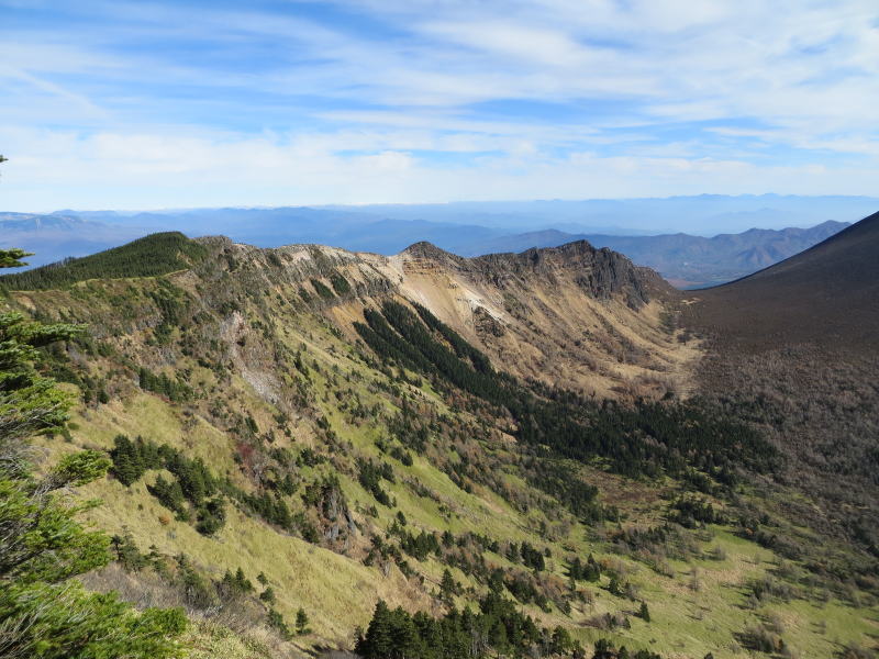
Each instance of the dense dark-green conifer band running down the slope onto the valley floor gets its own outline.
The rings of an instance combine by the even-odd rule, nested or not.
[[[734,482],[741,468],[778,467],[778,451],[759,433],[705,401],[598,403],[526,386],[492,370],[481,353],[424,308],[415,315],[387,302],[381,313],[367,310],[365,317],[367,324],[355,327],[379,356],[425,376],[438,372],[455,387],[507,410],[516,423],[515,436],[538,454],[604,459],[630,477],[681,476],[694,468],[725,484]]]

